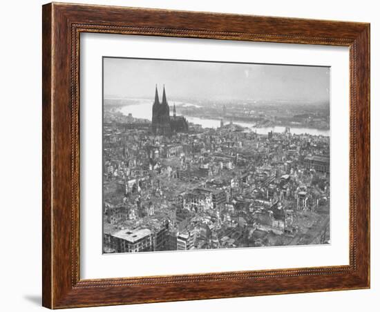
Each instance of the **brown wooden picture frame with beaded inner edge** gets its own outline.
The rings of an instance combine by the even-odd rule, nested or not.
[[[43,305],[50,309],[370,287],[370,24],[49,3],[43,6]],[[101,32],[350,48],[350,264],[81,280],[79,35]]]

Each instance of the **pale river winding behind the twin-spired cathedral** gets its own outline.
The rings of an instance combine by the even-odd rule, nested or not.
[[[184,106],[189,106],[191,104],[184,104]],[[178,105],[180,107],[180,105]],[[132,114],[135,118],[149,119],[152,116],[152,103],[151,101],[142,100],[140,104],[132,104],[128,106],[123,106],[120,111],[124,115]],[[206,119],[199,117],[186,117],[189,122],[193,124],[200,124],[202,128],[218,128],[220,126],[220,119]],[[228,121],[225,121],[227,123]],[[243,121],[234,121],[234,124],[239,126],[250,128],[256,131],[260,135],[266,135],[269,131],[274,133],[283,133],[285,131],[285,126],[274,126],[274,127],[263,127],[263,128],[253,128],[252,124]],[[330,130],[321,130],[316,128],[296,128],[290,127],[290,133],[295,135],[302,135],[307,133],[309,135],[324,135],[330,136]]]

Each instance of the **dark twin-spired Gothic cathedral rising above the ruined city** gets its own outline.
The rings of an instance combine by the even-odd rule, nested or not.
[[[155,98],[152,107],[152,132],[154,135],[172,135],[179,132],[187,132],[189,124],[183,116],[177,116],[175,113],[175,104],[173,106],[173,116],[170,116],[170,108],[167,102],[167,95],[162,92],[162,102],[158,98],[157,85],[155,86]]]

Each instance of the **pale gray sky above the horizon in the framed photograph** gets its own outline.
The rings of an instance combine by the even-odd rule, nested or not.
[[[104,58],[104,97],[167,96],[329,102],[330,69],[312,66]]]

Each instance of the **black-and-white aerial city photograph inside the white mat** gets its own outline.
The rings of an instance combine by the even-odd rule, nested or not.
[[[330,244],[330,68],[103,57],[103,253]]]

